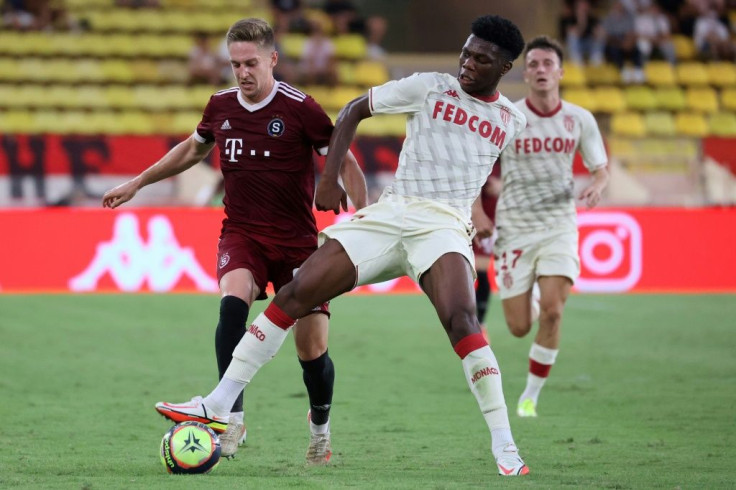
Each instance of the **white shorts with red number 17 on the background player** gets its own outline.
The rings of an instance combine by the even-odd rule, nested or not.
[[[575,282],[580,275],[577,230],[513,236],[501,231],[493,252],[501,299],[529,291],[539,276],[564,276]]]

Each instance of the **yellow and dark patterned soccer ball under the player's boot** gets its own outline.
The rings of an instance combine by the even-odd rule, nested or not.
[[[220,462],[220,439],[199,422],[182,422],[161,440],[161,463],[177,475],[208,473]]]

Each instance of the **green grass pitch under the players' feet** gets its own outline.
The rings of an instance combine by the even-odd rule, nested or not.
[[[487,323],[523,478],[496,475],[423,296],[333,302],[334,464],[303,463],[307,399],[288,339],[247,390],[237,458],[166,474],[169,424],[153,404],[214,387],[218,307],[211,295],[0,296],[0,488],[736,486],[734,296],[572,296],[534,420],[515,415],[531,338],[511,337],[494,298]]]

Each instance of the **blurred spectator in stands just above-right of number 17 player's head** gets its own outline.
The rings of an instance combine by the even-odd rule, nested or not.
[[[589,0],[575,0],[564,7],[560,18],[560,37],[567,44],[570,62],[582,65],[603,63],[605,33],[598,18],[591,12]]]

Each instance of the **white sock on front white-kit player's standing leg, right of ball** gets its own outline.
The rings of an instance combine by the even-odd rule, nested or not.
[[[495,455],[499,448],[503,449],[507,444],[514,442],[503,397],[498,361],[491,348],[486,345],[470,352],[463,358],[462,363],[470,391],[478,400],[483,418],[491,431],[491,447]]]

